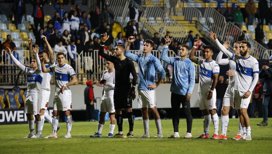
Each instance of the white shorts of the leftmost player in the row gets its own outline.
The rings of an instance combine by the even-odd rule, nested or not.
[[[41,106],[42,99],[43,99],[42,95],[33,95],[33,96],[26,95],[24,113],[29,113],[34,115],[40,114],[40,106]]]

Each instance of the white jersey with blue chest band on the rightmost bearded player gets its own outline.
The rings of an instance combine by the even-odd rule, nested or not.
[[[236,80],[234,90],[247,92],[253,81],[254,73],[259,73],[259,62],[256,58],[249,56],[244,59],[242,56],[233,53],[231,60],[236,63]]]

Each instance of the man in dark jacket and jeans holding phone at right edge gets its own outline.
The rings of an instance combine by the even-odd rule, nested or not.
[[[267,126],[268,105],[272,101],[272,56],[269,57],[269,66],[263,65],[259,75],[260,79],[264,79],[264,95],[263,95],[263,121],[258,126]]]

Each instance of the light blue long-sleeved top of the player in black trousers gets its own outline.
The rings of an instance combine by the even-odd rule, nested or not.
[[[160,59],[173,66],[170,91],[178,95],[192,94],[195,86],[196,67],[189,58],[167,57],[168,47],[164,47]]]

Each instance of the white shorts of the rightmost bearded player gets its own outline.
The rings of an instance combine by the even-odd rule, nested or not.
[[[234,109],[248,108],[248,105],[251,99],[251,94],[249,95],[248,98],[243,98],[244,93],[245,92],[234,90],[234,101],[233,101]]]

